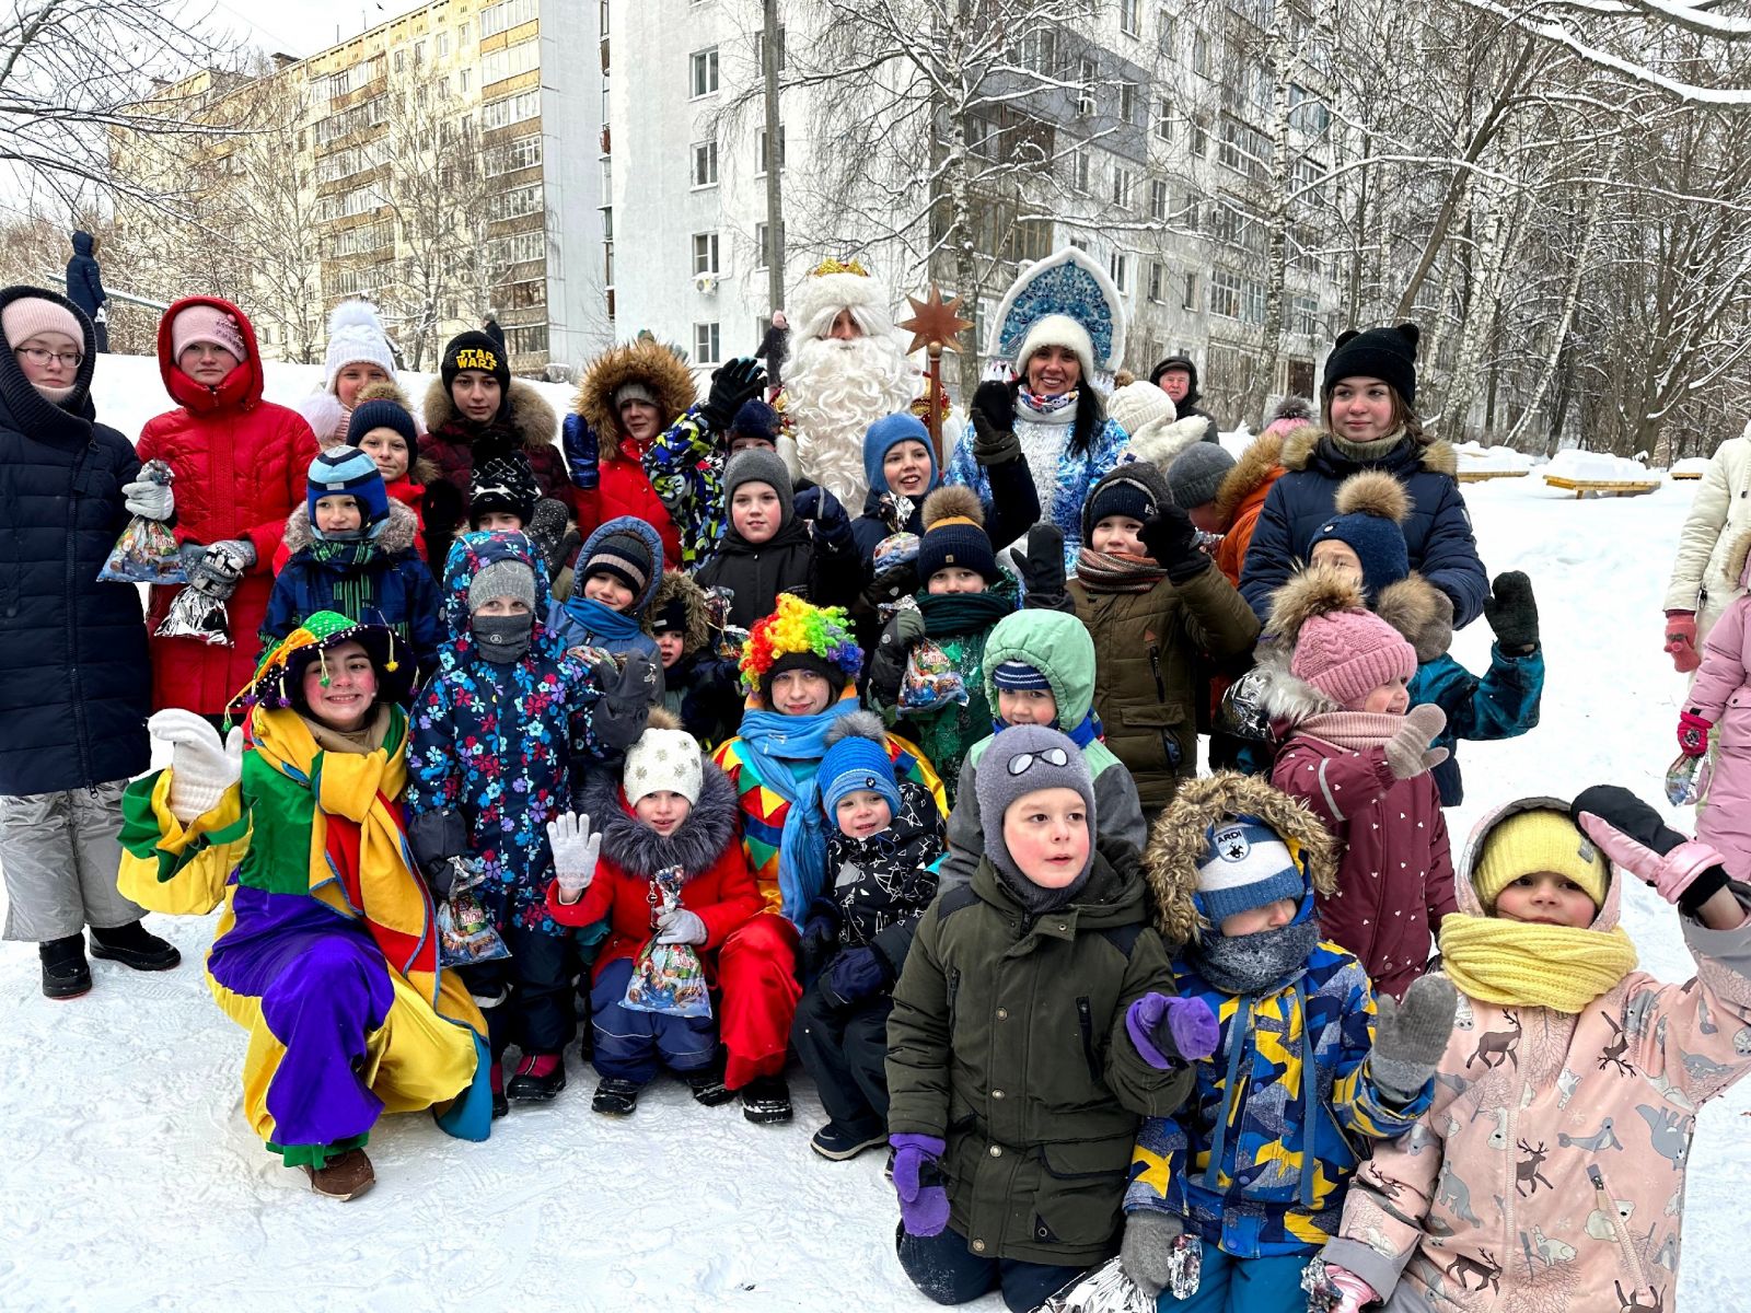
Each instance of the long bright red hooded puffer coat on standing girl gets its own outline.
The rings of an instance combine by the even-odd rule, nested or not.
[[[170,324],[191,305],[210,305],[236,319],[249,359],[205,387],[177,368]],[[256,674],[256,634],[273,592],[273,557],[285,532],[285,516],[305,504],[305,476],[317,455],[317,439],[303,417],[261,399],[261,352],[243,312],[215,296],[189,296],[165,312],[158,324],[158,373],[179,403],[145,422],[137,445],[140,460],[165,460],[175,473],[172,490],[179,543],[249,539],[256,564],[226,604],[231,648],[198,639],[152,639],[152,707],[187,707],[217,716]],[[156,630],[180,586],[152,588],[147,628]]]

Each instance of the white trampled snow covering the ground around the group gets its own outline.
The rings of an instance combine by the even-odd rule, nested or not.
[[[275,368],[270,396],[315,376]],[[165,406],[156,368],[105,357],[98,404],[133,436]],[[1660,651],[1660,600],[1691,490],[1576,501],[1543,480],[1467,485],[1490,571],[1534,579],[1550,685],[1530,735],[1462,746],[1469,802],[1450,816],[1455,840],[1522,793],[1614,781],[1658,798],[1683,692]],[[1483,669],[1488,641],[1478,621],[1455,655]],[[1625,902],[1642,963],[1688,977],[1672,910],[1641,886]],[[893,1257],[881,1155],[814,1157],[819,1113],[800,1075],[790,1127],[697,1108],[679,1082],[611,1122],[590,1113],[594,1073],[573,1057],[571,1087],[548,1108],[513,1110],[485,1145],[448,1140],[427,1117],[385,1119],[371,1136],[378,1187],[343,1206],[317,1199],[243,1126],[243,1036],[201,984],[212,921],[151,921],[184,966],[142,977],[93,963],[96,989],[72,1003],[42,998],[30,945],[0,945],[4,1309],[932,1308]],[[1700,1117],[1684,1313],[1746,1302],[1746,1117],[1751,1085]]]

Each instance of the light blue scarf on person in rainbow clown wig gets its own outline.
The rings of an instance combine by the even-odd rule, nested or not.
[[[812,716],[781,716],[762,707],[742,713],[742,751],[760,783],[790,804],[777,847],[777,889],[781,910],[798,928],[826,882],[826,812],[816,779],[826,756],[826,730],[853,711],[861,711],[858,700],[840,697]]]

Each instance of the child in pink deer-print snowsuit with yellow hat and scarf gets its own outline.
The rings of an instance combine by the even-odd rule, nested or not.
[[[1683,986],[1635,970],[1613,865],[1677,905]],[[1674,1308],[1695,1113],[1751,1071],[1751,888],[1597,786],[1480,821],[1459,900],[1434,1103],[1357,1171],[1313,1308]]]

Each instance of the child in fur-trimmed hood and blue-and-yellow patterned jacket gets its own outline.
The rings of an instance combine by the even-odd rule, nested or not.
[[[1184,998],[1219,1029],[1180,1049],[1198,1089],[1136,1140],[1121,1259],[1173,1309],[1301,1309],[1301,1271],[1338,1229],[1368,1141],[1411,1129],[1453,1029],[1453,986],[1417,980],[1401,1007],[1376,1003],[1354,954],[1320,942],[1313,893],[1331,893],[1331,835],[1262,779],[1187,781],[1145,858]],[[1138,1007],[1136,1028],[1159,1019]],[[1138,1029],[1133,1028],[1133,1036]],[[1201,1255],[1201,1280],[1194,1259]],[[1171,1292],[1164,1292],[1173,1287]]]

